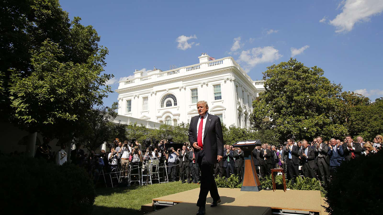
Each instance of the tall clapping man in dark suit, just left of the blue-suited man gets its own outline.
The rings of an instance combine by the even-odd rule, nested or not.
[[[326,143],[322,142],[322,137],[316,137],[316,165],[319,169],[319,179],[323,181],[324,184],[330,182],[330,158],[327,155],[329,151],[329,146]]]

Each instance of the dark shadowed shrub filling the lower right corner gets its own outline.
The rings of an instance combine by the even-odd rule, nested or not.
[[[381,214],[383,150],[345,161],[325,187],[330,214]]]

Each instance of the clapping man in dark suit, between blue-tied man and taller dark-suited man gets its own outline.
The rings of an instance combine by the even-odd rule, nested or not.
[[[303,149],[301,149],[301,161],[302,161],[302,171],[304,177],[316,178],[314,169],[315,169],[315,151],[313,148],[309,147],[309,144],[306,140],[302,141]]]

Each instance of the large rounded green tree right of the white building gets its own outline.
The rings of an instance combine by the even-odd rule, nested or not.
[[[346,134],[336,108],[342,86],[323,74],[321,68],[306,67],[292,58],[267,67],[263,73],[266,90],[253,103],[253,128],[271,129],[280,141]],[[272,120],[264,121],[266,117]]]

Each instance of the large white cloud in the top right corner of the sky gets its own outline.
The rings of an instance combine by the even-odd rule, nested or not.
[[[335,26],[335,32],[348,32],[354,28],[355,23],[369,21],[373,15],[378,15],[383,11],[382,0],[345,0],[342,12],[330,24]]]

